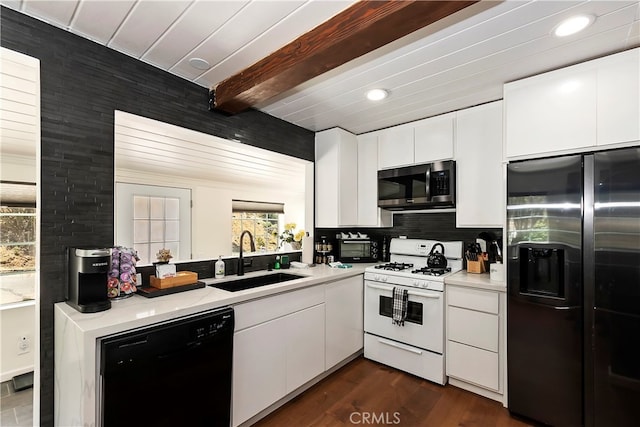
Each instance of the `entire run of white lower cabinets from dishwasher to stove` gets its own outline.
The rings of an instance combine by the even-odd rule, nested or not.
[[[363,286],[357,275],[234,307],[233,426],[362,349]]]

